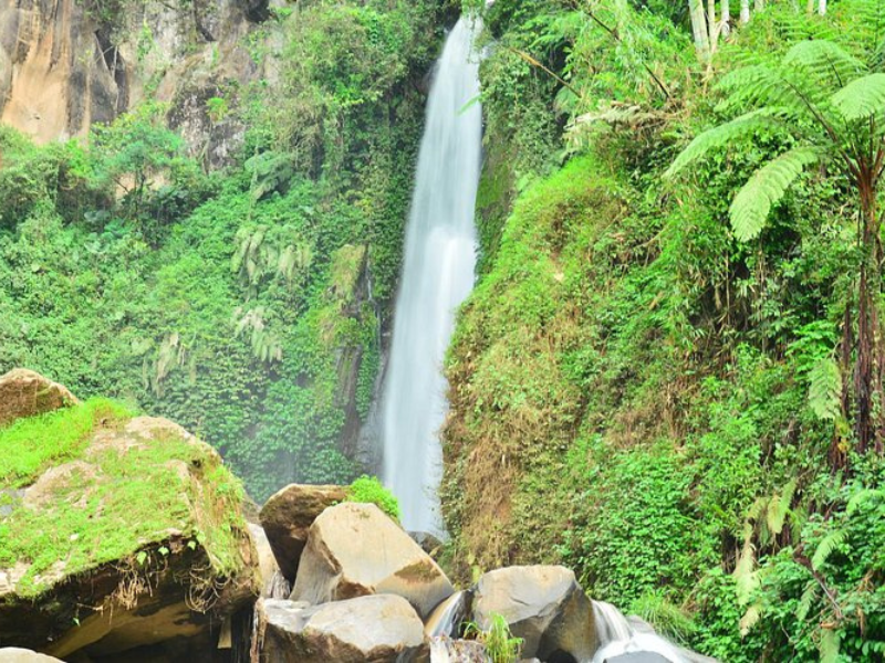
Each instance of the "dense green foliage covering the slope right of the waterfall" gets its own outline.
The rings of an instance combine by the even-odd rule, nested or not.
[[[674,3],[487,10],[450,564],[563,561],[723,661],[871,661],[885,7],[768,4],[700,59]]]

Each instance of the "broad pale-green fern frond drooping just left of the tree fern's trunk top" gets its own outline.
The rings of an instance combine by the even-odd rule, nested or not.
[[[741,242],[758,236],[772,206],[780,202],[790,185],[820,157],[815,148],[798,147],[757,170],[731,203],[729,214],[735,236]]]

